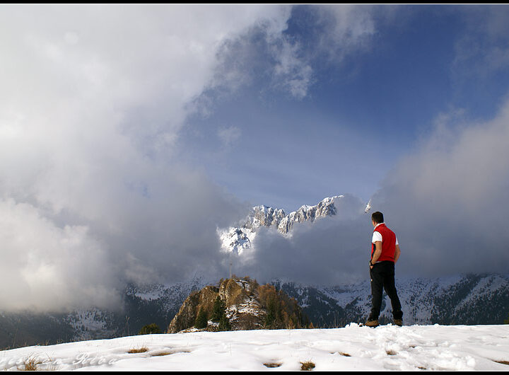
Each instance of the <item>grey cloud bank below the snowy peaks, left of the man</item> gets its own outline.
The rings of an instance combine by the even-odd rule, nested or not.
[[[365,276],[370,222],[365,204],[346,195],[337,215],[295,224],[291,236],[257,231],[251,251],[232,256],[234,271],[259,282],[287,279],[305,284],[348,284]]]

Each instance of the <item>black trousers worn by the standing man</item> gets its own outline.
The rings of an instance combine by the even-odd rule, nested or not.
[[[370,269],[371,277],[371,296],[372,307],[368,320],[374,321],[380,315],[380,308],[382,307],[382,294],[383,289],[389,296],[392,304],[392,316],[394,319],[403,318],[401,310],[401,303],[396,292],[396,284],[394,283],[394,262],[384,261],[375,263]]]

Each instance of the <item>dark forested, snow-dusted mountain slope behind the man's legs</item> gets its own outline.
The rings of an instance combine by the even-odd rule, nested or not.
[[[338,286],[308,286],[275,280],[295,298],[313,324],[337,327],[364,322],[371,308],[369,280]],[[457,275],[426,279],[396,277],[403,321],[411,324],[498,324],[509,314],[509,275]],[[392,322],[384,294],[380,321]]]

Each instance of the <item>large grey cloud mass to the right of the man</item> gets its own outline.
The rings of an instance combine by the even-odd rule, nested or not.
[[[507,272],[508,144],[505,103],[488,122],[439,122],[387,176],[373,209],[399,231],[404,272]]]

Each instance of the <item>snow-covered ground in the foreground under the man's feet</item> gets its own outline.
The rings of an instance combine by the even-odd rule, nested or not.
[[[130,350],[145,352],[129,353]],[[0,369],[509,370],[509,325],[250,330],[143,335],[0,352]],[[498,363],[498,362],[505,362]],[[271,364],[272,367],[268,367]]]

